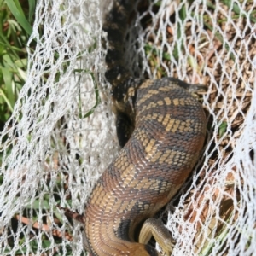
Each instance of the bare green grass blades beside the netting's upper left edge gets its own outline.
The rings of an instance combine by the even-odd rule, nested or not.
[[[35,0],[0,0],[0,131],[26,82],[26,43],[34,9]]]

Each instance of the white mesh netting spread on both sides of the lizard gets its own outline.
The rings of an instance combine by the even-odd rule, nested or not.
[[[167,207],[173,255],[256,255],[256,3],[163,0],[138,9],[127,43],[133,72],[208,86],[201,163]],[[1,255],[86,254],[82,225],[57,205],[83,213],[118,154],[101,29],[98,0],[38,0],[37,47],[1,133]]]

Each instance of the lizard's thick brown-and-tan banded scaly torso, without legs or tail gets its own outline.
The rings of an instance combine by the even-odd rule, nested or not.
[[[84,211],[91,255],[158,255],[135,242],[137,229],[182,186],[206,135],[201,104],[172,79],[146,80],[128,95],[135,130],[96,183]]]

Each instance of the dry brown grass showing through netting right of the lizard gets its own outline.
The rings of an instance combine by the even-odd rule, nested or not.
[[[203,184],[203,177],[207,172],[207,170],[203,170],[198,180],[199,188],[201,188],[198,189],[196,196],[198,206],[196,207],[195,203],[189,203],[194,191],[190,193],[186,201],[188,213],[184,219],[189,219],[191,223],[194,223],[195,217],[198,217],[196,208],[199,208],[199,205],[206,201],[204,195],[207,189],[209,189],[209,185],[215,181],[214,172],[217,170],[218,165],[216,166],[216,162],[219,160],[219,152],[223,154],[221,157],[222,161],[229,160],[232,155],[232,150],[236,146],[236,139],[241,136],[242,125],[252,102],[252,90],[248,90],[246,84],[247,86],[249,85],[250,89],[253,89],[253,83],[255,82],[252,60],[256,55],[256,40],[255,36],[253,36],[256,32],[250,31],[249,29],[244,31],[248,20],[245,15],[241,15],[241,13],[251,13],[249,20],[251,24],[256,23],[256,19],[254,18],[256,17],[256,9],[253,10],[253,1],[247,1],[243,10],[238,9],[235,4],[232,11],[230,11],[229,1],[219,2],[218,9],[221,11],[218,12],[214,4],[214,1],[207,2],[207,12],[209,15],[204,15],[203,22],[205,33],[201,33],[199,27],[195,30],[195,32],[200,35],[197,38],[200,44],[198,44],[198,42],[194,42],[193,44],[190,41],[192,37],[191,22],[188,21],[184,24],[187,42],[184,42],[183,48],[189,49],[189,54],[193,56],[193,63],[189,61],[187,63],[187,76],[195,84],[199,83],[198,78],[200,78],[203,84],[209,86],[206,93],[208,105],[205,106],[208,118],[207,127],[209,137],[213,137],[214,124],[218,124],[218,134],[215,132],[215,141],[211,145],[213,154],[208,160],[209,167],[215,166],[211,168],[212,173],[208,176],[208,185],[204,186]],[[203,7],[201,6],[200,12],[203,11]],[[212,19],[213,15],[215,15],[214,20]],[[227,19],[227,17],[229,17],[229,19]],[[175,19],[175,17],[170,16],[170,20],[173,20],[173,18]],[[179,17],[179,19],[183,19],[183,17]],[[232,20],[232,22],[230,22],[230,20]],[[218,26],[218,31],[213,31],[212,27],[216,26]],[[156,28],[156,31],[157,29],[158,28]],[[245,32],[245,36],[237,38],[237,30]],[[167,27],[166,32],[168,42],[173,44],[172,27]],[[155,44],[154,35],[149,38],[151,38],[152,41],[150,42],[149,40],[148,45]],[[230,49],[228,44],[224,44],[224,42],[228,42],[229,45],[232,45],[232,49]],[[159,42],[159,46],[160,44],[162,44],[162,42]],[[212,45],[212,47],[209,47],[209,45]],[[166,52],[166,55],[169,54],[169,52]],[[173,55],[176,54],[174,50]],[[159,53],[157,51],[151,51],[148,59],[151,70],[154,71],[155,68],[158,69],[158,78],[166,75],[164,65],[167,67],[170,66],[170,60],[168,58],[160,60]],[[202,73],[201,71],[206,67],[208,73]],[[211,71],[211,73],[209,71]],[[173,73],[174,77],[177,77],[177,69],[173,70]],[[212,82],[212,77],[214,78],[214,82]],[[209,108],[212,113],[209,113]],[[229,132],[227,132],[227,127],[230,129]],[[217,147],[220,150],[217,151]],[[225,236],[227,227],[224,225],[224,222],[229,222],[230,214],[235,216],[233,221],[236,221],[237,212],[234,209],[234,201],[232,198],[236,198],[236,201],[240,201],[240,192],[234,189],[234,172],[236,172],[236,169],[230,170],[230,175],[227,176],[225,181],[225,196],[223,196],[219,202],[219,215],[217,216],[215,212],[211,212],[211,207],[205,204],[200,215],[200,221],[197,220],[196,222],[198,233],[195,236],[195,246],[200,247],[203,242],[204,248],[201,252],[197,251],[195,253],[207,255],[211,251],[211,244],[208,241],[204,241],[204,237],[201,237],[206,236],[206,233],[201,232],[201,230],[205,229],[202,225],[205,224],[205,220],[208,216],[212,216],[212,219],[211,223],[207,225],[207,236],[211,237],[212,227],[217,226],[216,239],[223,239],[223,236]],[[212,201],[219,200],[219,195],[220,189],[215,189],[212,194]],[[220,219],[222,221],[220,221]],[[179,229],[182,230],[182,227],[179,227]]]

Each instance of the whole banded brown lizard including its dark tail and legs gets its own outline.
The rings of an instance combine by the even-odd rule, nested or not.
[[[121,151],[92,190],[84,216],[84,247],[91,256],[160,255],[174,241],[155,213],[183,185],[201,154],[206,118],[189,92],[204,86],[173,78],[141,80],[123,65],[126,26],[135,1],[114,0],[103,30],[108,32],[106,78],[113,85],[113,106]],[[125,131],[125,132],[124,132]]]

